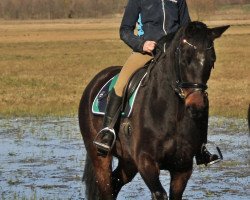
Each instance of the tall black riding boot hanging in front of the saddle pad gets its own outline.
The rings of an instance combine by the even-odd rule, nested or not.
[[[108,98],[108,104],[103,119],[103,129],[98,133],[94,141],[94,144],[97,147],[98,155],[101,155],[103,157],[107,156],[107,154],[113,147],[112,144],[115,142],[115,131],[113,127],[109,126],[113,121],[116,113],[120,112],[118,111],[118,109],[121,108],[122,103],[122,97],[117,96],[114,89],[110,91]]]

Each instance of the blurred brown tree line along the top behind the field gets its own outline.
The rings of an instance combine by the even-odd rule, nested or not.
[[[122,13],[128,0],[0,0],[2,19],[60,19],[102,17]],[[187,0],[195,12],[213,11],[216,5],[249,0]]]

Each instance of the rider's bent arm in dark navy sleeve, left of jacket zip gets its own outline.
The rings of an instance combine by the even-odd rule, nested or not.
[[[143,52],[143,45],[145,41],[142,37],[136,36],[134,30],[136,22],[140,13],[140,6],[138,0],[129,0],[126,6],[121,27],[120,27],[120,38],[130,46],[133,51]]]

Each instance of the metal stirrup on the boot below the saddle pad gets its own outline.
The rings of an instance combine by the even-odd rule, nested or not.
[[[113,134],[114,137],[113,137],[113,141],[111,143],[111,146],[96,141],[96,139],[98,137],[100,137],[101,134],[104,134],[104,132],[110,132]],[[115,141],[116,141],[115,130],[113,128],[105,127],[99,133],[97,133],[93,143],[96,145],[97,149],[100,149],[100,150],[104,151],[106,154],[108,154],[112,150],[112,148],[114,147]]]

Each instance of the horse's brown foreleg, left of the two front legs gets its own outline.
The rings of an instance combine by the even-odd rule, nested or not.
[[[160,182],[160,169],[154,159],[146,153],[139,156],[138,171],[152,194],[153,200],[167,200],[168,196]]]

